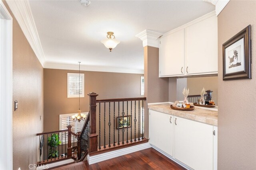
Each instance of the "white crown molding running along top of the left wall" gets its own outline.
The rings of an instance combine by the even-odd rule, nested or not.
[[[45,57],[28,0],[6,0],[28,43],[44,67]]]

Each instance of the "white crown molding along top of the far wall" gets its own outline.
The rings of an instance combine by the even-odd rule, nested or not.
[[[60,70],[79,70],[78,64],[50,63],[50,62],[45,62],[44,68],[60,69]],[[80,70],[97,71],[97,72],[119,72],[119,73],[144,74],[144,70],[140,70],[140,69],[130,69],[130,68],[111,67],[111,66],[81,65]]]

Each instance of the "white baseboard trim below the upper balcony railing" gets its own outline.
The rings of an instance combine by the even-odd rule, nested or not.
[[[148,149],[151,148],[152,146],[150,145],[150,143],[143,143],[140,145],[136,145],[133,147],[128,147],[128,148],[124,148],[124,149],[119,149],[119,150],[113,150],[110,152],[106,152],[106,153],[102,153],[102,154],[97,154],[94,156],[87,156],[87,161],[88,164],[95,164],[97,162],[101,162],[104,160],[108,160],[108,159],[112,159],[112,158],[116,158],[118,156],[122,156],[125,154],[130,154],[132,152],[137,152],[139,150],[144,150],[144,149]]]

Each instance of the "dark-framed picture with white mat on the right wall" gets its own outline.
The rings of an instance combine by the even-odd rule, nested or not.
[[[250,25],[222,45],[222,58],[223,80],[252,78]]]

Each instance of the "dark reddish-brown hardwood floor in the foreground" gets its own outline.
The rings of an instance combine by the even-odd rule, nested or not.
[[[153,148],[89,165],[87,161],[55,168],[54,170],[185,170]]]

